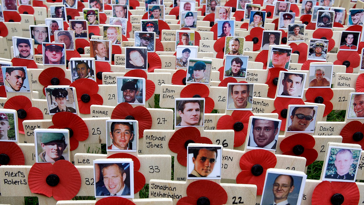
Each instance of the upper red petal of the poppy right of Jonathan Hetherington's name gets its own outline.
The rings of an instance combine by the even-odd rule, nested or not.
[[[210,200],[210,204],[226,204],[227,202],[227,193],[225,189],[214,181],[198,180],[191,182],[191,184],[187,186],[186,193],[187,196],[194,199],[206,197]]]

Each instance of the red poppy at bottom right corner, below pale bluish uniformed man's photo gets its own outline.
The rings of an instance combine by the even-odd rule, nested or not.
[[[312,193],[312,205],[357,205],[360,193],[356,183],[323,181],[318,184]]]

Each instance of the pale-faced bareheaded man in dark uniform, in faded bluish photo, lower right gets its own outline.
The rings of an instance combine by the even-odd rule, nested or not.
[[[340,149],[335,155],[335,174],[326,174],[325,178],[339,180],[354,180],[355,174],[350,174],[349,170],[353,164],[353,153],[348,149]]]

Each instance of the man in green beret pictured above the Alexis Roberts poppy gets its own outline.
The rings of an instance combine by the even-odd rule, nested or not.
[[[44,151],[38,155],[38,162],[56,162],[64,159],[62,154],[67,144],[62,133],[43,133],[40,145]]]

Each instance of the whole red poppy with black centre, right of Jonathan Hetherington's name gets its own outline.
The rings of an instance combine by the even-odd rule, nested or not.
[[[214,181],[197,180],[187,186],[187,196],[177,201],[177,205],[211,204],[222,205],[227,202],[227,193]],[[209,201],[208,203],[206,203]],[[202,202],[202,203],[201,203]]]

